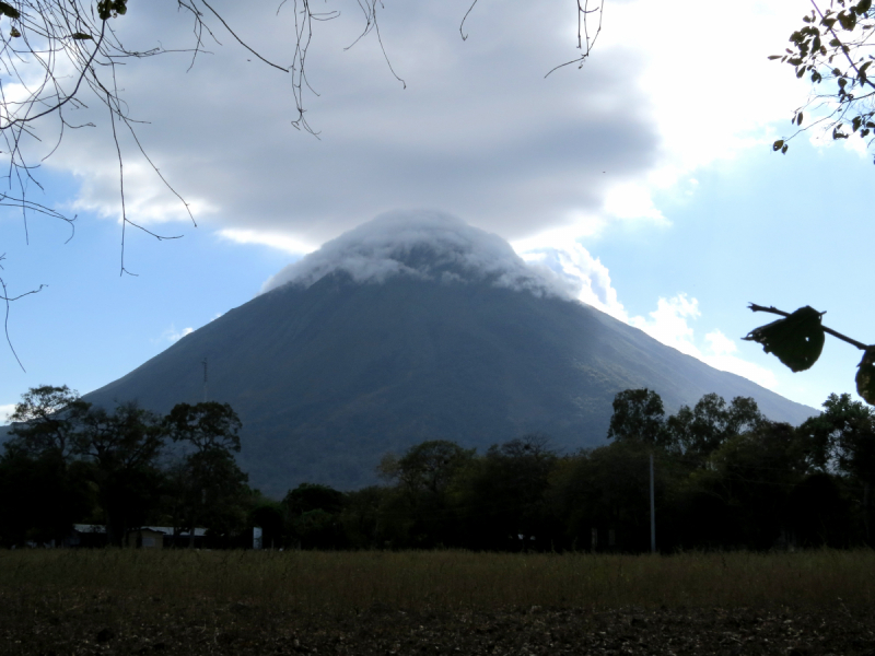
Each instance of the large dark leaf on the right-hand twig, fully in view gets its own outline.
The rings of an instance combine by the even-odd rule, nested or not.
[[[762,344],[763,351],[774,353],[792,371],[804,372],[824,350],[822,316],[824,313],[806,305],[786,318],[755,328],[744,339]]]

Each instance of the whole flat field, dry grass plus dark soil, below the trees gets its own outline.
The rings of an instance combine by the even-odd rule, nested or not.
[[[873,551],[3,551],[0,656],[875,656],[873,600]]]

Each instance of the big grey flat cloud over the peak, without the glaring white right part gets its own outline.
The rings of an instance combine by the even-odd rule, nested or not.
[[[308,96],[307,117],[322,130],[318,140],[289,125],[290,77],[247,61],[252,56],[233,39],[210,44],[212,54],[188,72],[187,56],[138,60],[118,70],[118,84],[133,117],[149,121],[139,134],[161,173],[202,225],[232,239],[253,243],[264,233],[285,249],[290,243],[278,235],[312,246],[358,216],[397,207],[444,208],[505,238],[599,214],[607,189],[644,175],[660,148],[646,98],[630,83],[642,54],[607,48],[583,70],[569,67],[545,80],[578,55],[576,16],[565,0],[478,5],[463,42],[466,9],[392,3],[381,13],[406,90],[375,39],[345,50],[361,27],[354,11],[322,25],[308,60],[308,81],[320,95]],[[246,3],[223,10],[238,34],[257,35],[266,56],[291,59],[291,12],[273,16]],[[155,35],[166,47],[190,44],[189,25],[161,5],[131,8],[114,30],[142,49]],[[98,104],[78,108],[71,120],[106,127]],[[148,225],[187,221],[136,143],[119,138],[130,218]],[[81,179],[77,209],[118,216],[112,138],[70,132],[47,165]]]

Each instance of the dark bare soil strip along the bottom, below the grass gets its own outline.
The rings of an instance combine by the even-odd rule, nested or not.
[[[875,609],[548,609],[342,617],[257,604],[0,593],[2,655],[875,656]]]

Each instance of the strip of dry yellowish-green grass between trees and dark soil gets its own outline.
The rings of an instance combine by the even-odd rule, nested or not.
[[[0,590],[370,608],[875,606],[875,551],[676,555],[56,550],[0,552]]]

